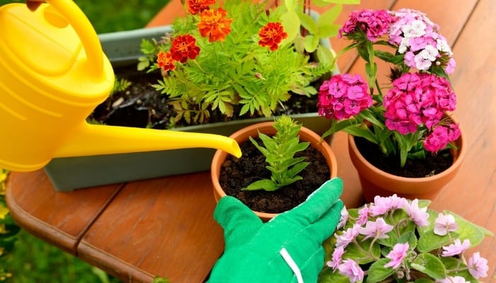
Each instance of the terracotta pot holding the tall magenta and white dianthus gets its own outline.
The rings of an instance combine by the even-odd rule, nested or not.
[[[454,122],[458,122],[451,117]],[[348,149],[351,162],[359,173],[359,179],[366,202],[373,202],[376,195],[387,197],[396,194],[400,197],[413,200],[434,200],[443,187],[451,181],[461,166],[466,154],[464,144],[464,133],[460,128],[461,135],[454,142],[458,150],[451,150],[453,165],[445,171],[425,178],[407,178],[386,173],[369,163],[355,144],[354,136],[348,137]]]

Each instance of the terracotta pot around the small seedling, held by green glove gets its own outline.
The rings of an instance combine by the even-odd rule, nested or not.
[[[244,141],[249,140],[249,137],[258,137],[258,132],[263,132],[267,135],[276,134],[276,129],[273,127],[274,122],[262,122],[255,125],[251,125],[249,127],[244,127],[243,129],[239,129],[239,131],[232,134],[230,137],[235,139],[238,144],[241,144]],[[313,132],[311,129],[306,127],[301,127],[300,130],[300,141],[310,141],[310,146],[315,147],[318,151],[320,151],[327,161],[327,165],[329,166],[330,175],[329,178],[334,178],[337,176],[337,161],[336,156],[334,156],[334,152],[326,141],[321,141],[320,136]],[[227,158],[227,152],[225,151],[215,151],[215,154],[212,159],[212,166],[210,168],[210,174],[212,177],[213,183],[213,194],[215,196],[215,200],[220,200],[221,197],[225,197],[226,194],[222,187],[220,187],[219,176],[220,176],[220,168],[222,163],[224,163]],[[317,187],[315,188],[317,189]],[[274,218],[277,214],[274,213],[266,213],[266,212],[255,212],[257,216],[260,217],[262,221],[269,221]]]

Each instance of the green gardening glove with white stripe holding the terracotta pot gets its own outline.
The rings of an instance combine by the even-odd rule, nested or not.
[[[343,183],[327,181],[298,207],[263,223],[235,197],[222,197],[214,218],[224,229],[225,251],[210,283],[317,282],[322,242],[336,229]]]

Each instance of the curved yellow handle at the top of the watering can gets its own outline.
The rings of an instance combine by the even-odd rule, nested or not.
[[[81,39],[88,61],[89,75],[95,78],[103,76],[103,50],[93,25],[83,11],[72,0],[47,0],[76,31]]]

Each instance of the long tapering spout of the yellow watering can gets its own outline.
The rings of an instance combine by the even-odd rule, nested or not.
[[[196,147],[221,149],[238,158],[241,156],[241,149],[234,139],[218,134],[89,125],[84,122],[55,151],[54,157],[125,154]]]

